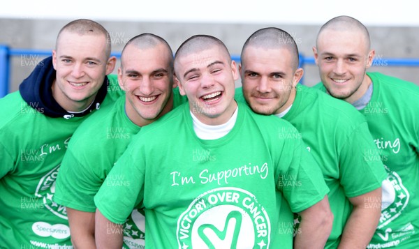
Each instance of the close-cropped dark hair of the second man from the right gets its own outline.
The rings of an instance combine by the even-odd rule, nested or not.
[[[243,45],[241,54],[242,58],[246,53],[247,47],[263,48],[265,50],[286,49],[292,55],[293,69],[297,69],[300,64],[298,47],[293,36],[282,29],[270,27],[259,29],[253,33],[249,38],[247,38]]]

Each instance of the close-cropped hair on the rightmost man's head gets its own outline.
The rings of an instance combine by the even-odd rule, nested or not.
[[[318,39],[321,34],[325,31],[352,31],[354,33],[360,33],[365,38],[365,45],[367,50],[371,47],[371,42],[369,39],[369,33],[367,28],[360,21],[356,20],[353,17],[348,17],[347,15],[341,15],[339,17],[332,18],[320,28],[318,31],[316,46],[318,46]]]

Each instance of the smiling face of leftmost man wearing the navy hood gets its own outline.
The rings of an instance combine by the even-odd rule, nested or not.
[[[87,108],[101,88],[105,75],[115,67],[115,57],[108,59],[107,40],[102,35],[79,35],[63,31],[52,52],[57,78],[52,95],[67,111]]]

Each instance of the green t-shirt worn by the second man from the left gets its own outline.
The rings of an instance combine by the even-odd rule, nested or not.
[[[173,89],[173,107],[187,101]],[[125,96],[107,110],[96,112],[75,131],[57,177],[54,202],[85,212],[96,211],[94,195],[140,126],[125,113]],[[144,216],[134,209],[124,225],[124,247],[144,246]]]

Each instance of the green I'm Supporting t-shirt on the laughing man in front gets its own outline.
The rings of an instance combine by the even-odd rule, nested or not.
[[[142,201],[147,248],[292,248],[291,211],[328,188],[290,123],[238,108],[219,139],[196,136],[188,104],[142,128],[95,196],[98,209],[123,223]]]

